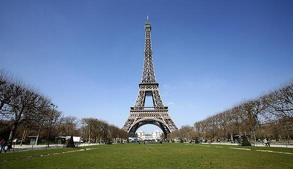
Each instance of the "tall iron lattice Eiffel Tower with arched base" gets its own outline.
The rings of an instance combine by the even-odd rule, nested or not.
[[[144,25],[145,44],[144,44],[144,63],[142,71],[142,80],[139,83],[139,91],[134,103],[134,107],[130,107],[130,115],[126,119],[122,129],[129,133],[129,137],[133,137],[135,131],[142,125],[153,124],[158,126],[164,133],[177,130],[175,123],[168,114],[168,107],[164,106],[163,101],[158,92],[158,83],[155,80],[154,68],[152,61],[152,50],[150,31],[151,26],[148,22]],[[145,107],[145,97],[152,98],[153,107]]]

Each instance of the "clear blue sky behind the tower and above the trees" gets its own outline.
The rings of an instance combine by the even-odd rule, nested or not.
[[[178,127],[293,75],[293,1],[269,0],[0,1],[0,66],[65,115],[121,127],[141,80],[146,14]]]

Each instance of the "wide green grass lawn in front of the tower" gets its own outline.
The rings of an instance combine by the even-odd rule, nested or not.
[[[88,147],[97,149],[2,161],[0,168],[293,168],[293,154],[256,151],[262,149],[293,153],[293,148],[183,143],[128,143]],[[78,149],[1,153],[0,160],[71,150]]]

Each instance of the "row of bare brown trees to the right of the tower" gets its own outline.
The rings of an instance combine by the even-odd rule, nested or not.
[[[182,126],[169,138],[233,140],[235,135],[250,139],[291,140],[293,136],[293,81],[255,99],[245,100],[193,126]]]

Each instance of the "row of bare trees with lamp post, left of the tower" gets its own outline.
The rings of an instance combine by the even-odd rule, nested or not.
[[[48,140],[51,136],[81,136],[88,141],[106,141],[127,138],[127,132],[96,118],[79,120],[52,110],[51,100],[22,80],[0,70],[0,139],[10,142],[27,136]]]

